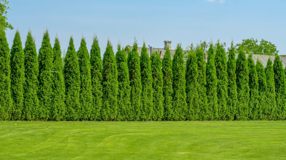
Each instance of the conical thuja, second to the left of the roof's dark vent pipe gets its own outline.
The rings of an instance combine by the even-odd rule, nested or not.
[[[129,79],[130,79],[130,102],[131,102],[131,117],[135,121],[141,120],[142,117],[142,103],[141,103],[141,75],[140,75],[140,61],[138,54],[137,41],[134,42],[131,52],[128,52],[128,69],[129,69]]]

